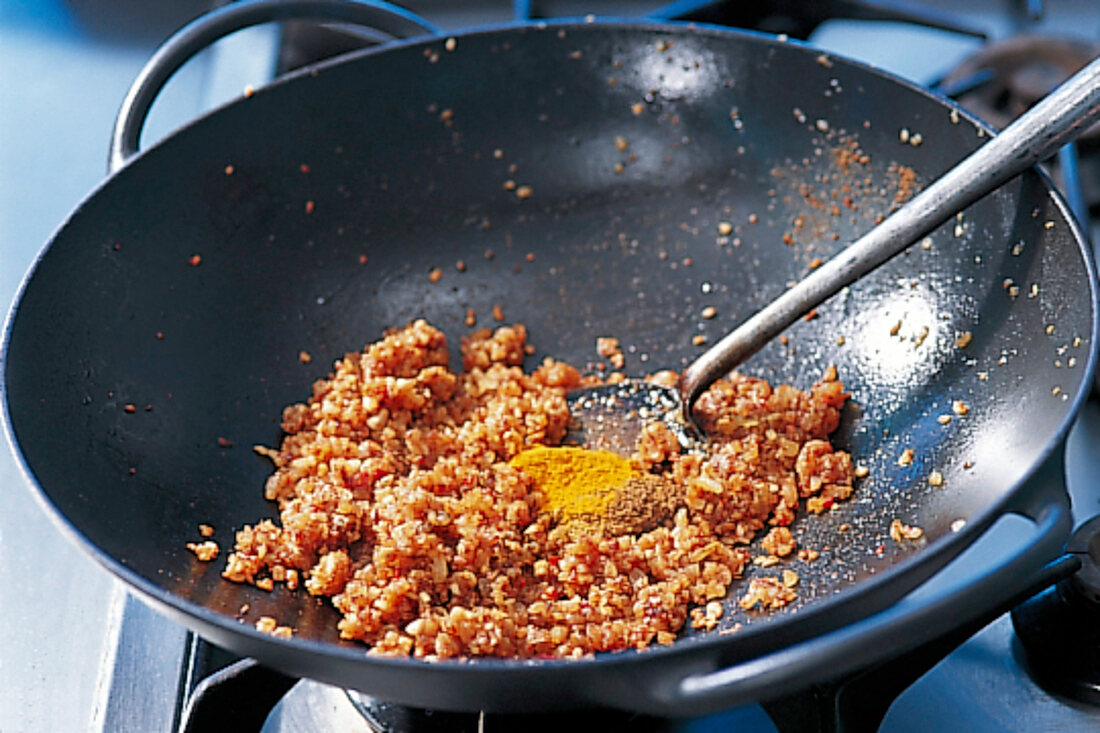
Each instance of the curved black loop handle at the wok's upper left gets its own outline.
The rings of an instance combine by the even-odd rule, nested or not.
[[[138,74],[114,119],[107,172],[114,173],[138,154],[153,100],[191,56],[235,31],[284,20],[351,23],[398,39],[440,33],[419,15],[381,0],[251,0],[219,8],[173,34]]]

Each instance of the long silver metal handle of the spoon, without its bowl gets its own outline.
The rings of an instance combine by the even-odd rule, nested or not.
[[[956,212],[1049,157],[1098,118],[1100,58],[689,364],[680,383],[684,409],[690,412],[698,395],[715,380],[729,373],[804,314],[902,252]]]

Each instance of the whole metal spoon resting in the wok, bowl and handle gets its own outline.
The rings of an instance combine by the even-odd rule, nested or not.
[[[681,445],[695,445],[702,431],[692,406],[715,380],[840,288],[901,253],[1001,184],[1054,155],[1098,119],[1100,58],[707,349],[684,370],[679,389],[628,380],[571,392],[572,424],[566,440],[629,455],[642,425],[658,419],[673,429]]]

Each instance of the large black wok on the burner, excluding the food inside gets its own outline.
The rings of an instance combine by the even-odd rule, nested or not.
[[[501,305],[532,360],[583,364],[610,335],[632,347],[629,371],[680,368],[694,336],[721,336],[888,215],[909,171],[931,179],[987,132],[881,72],[710,28],[499,28],[356,53],[134,155],[72,215],[9,317],[10,438],[46,510],[109,570],[292,674],[455,710],[700,713],[783,694],[949,626],[1064,541],[1096,278],[1038,173],[745,365],[806,387],[835,364],[853,393],[836,441],[870,469],[849,502],[796,524],[821,558],[790,564],[800,600],[783,612],[727,600],[714,632],[572,663],[373,658],[338,639],[327,603],[222,581],[185,544],[208,523],[228,549],[274,515],[271,464],[250,447],[277,445],[282,408],[385,328],[424,317],[454,346],[468,308],[484,326]],[[891,608],[1010,513],[1035,521],[1033,543],[970,591]],[[890,539],[895,518],[924,539]],[[239,621],[244,604],[295,637]]]

